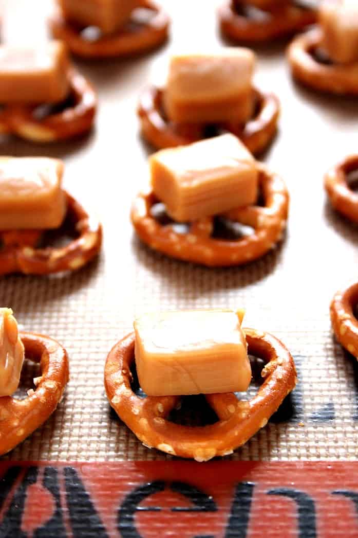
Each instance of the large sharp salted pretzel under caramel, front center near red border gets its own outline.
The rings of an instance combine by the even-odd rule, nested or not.
[[[201,427],[175,424],[167,417],[180,397],[140,398],[132,391],[134,332],[118,342],[106,360],[104,381],[111,406],[148,448],[197,461],[232,454],[266,426],[297,381],[293,359],[280,340],[254,329],[245,329],[245,333],[248,353],[267,363],[261,373],[265,380],[248,401],[239,400],[233,393],[205,394],[218,416],[216,423]]]

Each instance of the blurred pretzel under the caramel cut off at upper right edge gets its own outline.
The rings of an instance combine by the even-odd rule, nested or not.
[[[321,29],[314,28],[292,41],[288,48],[292,75],[306,86],[320,91],[358,95],[358,64],[320,62],[315,53],[319,51],[322,40]]]

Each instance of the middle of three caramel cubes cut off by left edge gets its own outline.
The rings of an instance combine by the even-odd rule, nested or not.
[[[0,157],[0,230],[58,228],[66,214],[63,164],[45,157]]]

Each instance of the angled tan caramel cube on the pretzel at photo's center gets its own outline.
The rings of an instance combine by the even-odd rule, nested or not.
[[[149,165],[154,194],[178,222],[248,206],[257,199],[256,161],[233,134],[161,150]]]

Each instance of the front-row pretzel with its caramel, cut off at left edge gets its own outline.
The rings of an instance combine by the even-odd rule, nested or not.
[[[27,397],[16,392],[24,358],[39,363],[41,374]],[[58,406],[69,379],[66,350],[54,339],[18,332],[9,308],[0,309],[0,455],[43,424]]]

